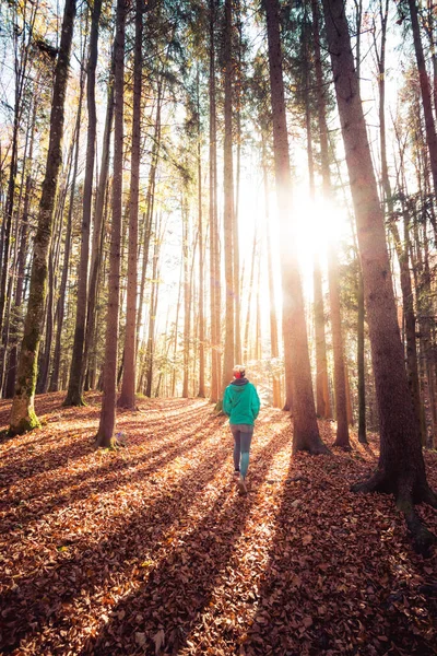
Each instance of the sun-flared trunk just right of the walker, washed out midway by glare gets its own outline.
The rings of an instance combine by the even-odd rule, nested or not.
[[[293,378],[293,452],[328,453],[317,425],[308,354],[304,298],[293,223],[290,220],[292,176],[285,115],[284,81],[280,39],[279,2],[267,0],[269,71],[273,113],[273,150],[276,197],[281,223],[281,270],[284,333],[291,335],[290,353]],[[296,221],[296,218],[294,219]],[[290,253],[290,250],[292,253]],[[285,347],[287,343],[285,342]]]

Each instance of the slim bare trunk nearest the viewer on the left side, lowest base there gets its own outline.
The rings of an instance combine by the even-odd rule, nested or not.
[[[125,78],[125,27],[128,10],[127,0],[117,0],[115,43],[115,108],[114,108],[114,178],[113,224],[110,235],[110,261],[108,280],[108,312],[106,325],[105,365],[103,382],[102,413],[96,444],[102,447],[114,445],[117,399],[118,318],[120,306],[120,262],[122,220],[122,159],[123,159],[123,78]]]

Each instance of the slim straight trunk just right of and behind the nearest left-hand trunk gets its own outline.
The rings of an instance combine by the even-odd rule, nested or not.
[[[125,372],[118,405],[134,410],[137,360],[137,284],[138,284],[138,209],[141,159],[141,77],[142,77],[143,0],[135,5],[135,46],[133,59],[132,159],[129,201],[128,296],[126,309]]]

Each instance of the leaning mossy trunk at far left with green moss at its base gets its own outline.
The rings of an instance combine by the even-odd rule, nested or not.
[[[62,159],[64,103],[75,9],[75,0],[66,1],[59,56],[55,69],[49,147],[39,203],[38,225],[34,238],[27,313],[11,410],[11,434],[24,433],[39,425],[34,408],[36,370],[44,320],[55,199]]]

